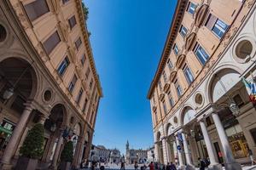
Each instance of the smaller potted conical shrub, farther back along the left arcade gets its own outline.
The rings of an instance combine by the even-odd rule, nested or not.
[[[64,145],[64,149],[61,151],[61,170],[68,170],[71,167],[73,161],[73,141],[68,141]]]

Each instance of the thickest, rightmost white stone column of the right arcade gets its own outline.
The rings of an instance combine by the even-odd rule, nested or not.
[[[212,119],[218,132],[218,137],[224,150],[225,169],[226,170],[241,170],[241,165],[234,159],[228,137],[225,133],[222,122],[217,113],[212,113]]]

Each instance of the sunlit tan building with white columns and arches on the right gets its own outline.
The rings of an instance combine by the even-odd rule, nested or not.
[[[256,156],[256,11],[253,0],[180,0],[148,91],[157,161],[209,157],[241,169]],[[249,90],[250,91],[250,90]],[[250,94],[250,92],[249,92]]]

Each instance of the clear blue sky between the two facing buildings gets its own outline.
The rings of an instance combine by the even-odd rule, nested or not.
[[[154,144],[148,88],[172,21],[175,0],[84,0],[104,97],[93,144],[125,152]]]

